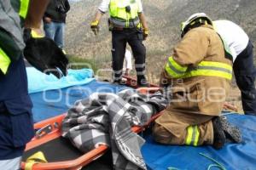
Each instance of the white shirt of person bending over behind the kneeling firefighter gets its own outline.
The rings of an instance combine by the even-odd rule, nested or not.
[[[213,26],[220,37],[229,45],[233,61],[235,61],[237,55],[247,48],[249,42],[247,33],[230,20],[215,20]]]

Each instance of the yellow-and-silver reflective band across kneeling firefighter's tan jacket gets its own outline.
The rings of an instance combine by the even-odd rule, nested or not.
[[[232,79],[232,66],[215,61],[201,61],[201,63],[192,69],[186,69],[178,65],[172,57],[169,58],[166,64],[166,71],[173,78],[188,78],[188,77],[223,77],[228,80]]]

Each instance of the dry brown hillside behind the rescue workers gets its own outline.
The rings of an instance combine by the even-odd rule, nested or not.
[[[100,34],[90,31],[96,8],[101,0],[83,0],[71,4],[67,16],[66,47],[68,54],[94,58],[97,64],[110,68],[111,32],[108,31],[105,14]],[[157,75],[166,57],[172,54],[179,41],[182,20],[196,12],[205,12],[212,20],[233,20],[247,31],[256,45],[256,1],[252,0],[143,0],[150,35],[144,42],[147,48],[148,75]],[[153,78],[154,79],[154,78]]]

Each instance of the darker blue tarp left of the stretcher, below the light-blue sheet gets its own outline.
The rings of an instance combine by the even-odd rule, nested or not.
[[[127,87],[113,85],[108,82],[96,82],[94,80],[80,86],[76,85],[30,94],[33,103],[32,113],[34,122],[40,122],[49,117],[65,113],[76,100],[87,98],[92,93],[118,93],[119,90],[124,88]]]

